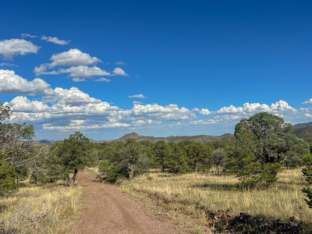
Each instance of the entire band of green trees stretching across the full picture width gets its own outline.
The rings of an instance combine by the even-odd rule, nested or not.
[[[91,143],[80,132],[51,145],[32,143],[31,124],[4,123],[11,110],[0,102],[0,197],[18,191],[18,181],[34,183],[62,180],[72,186],[76,174],[85,167],[98,167],[101,178],[114,183],[120,177],[159,169],[171,173],[207,172],[214,168],[236,176],[239,187],[269,187],[284,168],[304,166],[310,187],[303,192],[312,201],[312,140],[291,134],[293,126],[266,112],[241,119],[232,140],[214,143],[183,140],[177,144],[136,141]],[[311,204],[311,203],[310,203]]]

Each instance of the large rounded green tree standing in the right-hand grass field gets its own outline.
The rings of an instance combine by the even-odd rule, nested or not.
[[[302,164],[301,156],[309,151],[305,141],[290,134],[292,129],[284,119],[266,112],[241,119],[235,126],[236,138],[227,146],[227,171],[248,186],[272,185],[282,165]]]

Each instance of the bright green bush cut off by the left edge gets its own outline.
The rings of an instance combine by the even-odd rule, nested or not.
[[[3,155],[0,151],[0,197],[18,191],[19,185],[15,183],[16,178],[14,168],[3,160]]]

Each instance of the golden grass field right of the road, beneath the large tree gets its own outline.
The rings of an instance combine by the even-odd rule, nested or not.
[[[212,210],[244,212],[254,217],[281,219],[289,221],[289,217],[298,216],[301,220],[311,222],[312,209],[304,201],[301,188],[305,186],[301,169],[296,168],[278,174],[276,186],[270,189],[237,190],[231,186],[238,183],[231,175],[214,176],[212,173],[190,173],[173,175],[170,173],[150,172],[124,181],[121,188],[128,193],[141,193],[159,196],[164,200],[186,203],[179,209],[188,215],[200,219],[196,206],[208,207]],[[177,208],[176,208],[177,209]]]

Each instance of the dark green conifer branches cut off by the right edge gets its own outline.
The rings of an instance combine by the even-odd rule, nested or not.
[[[310,208],[312,208],[312,154],[307,154],[303,157],[305,168],[302,168],[302,172],[305,175],[305,180],[309,183],[310,188],[303,188],[302,192],[305,193],[307,199],[305,202]]]

